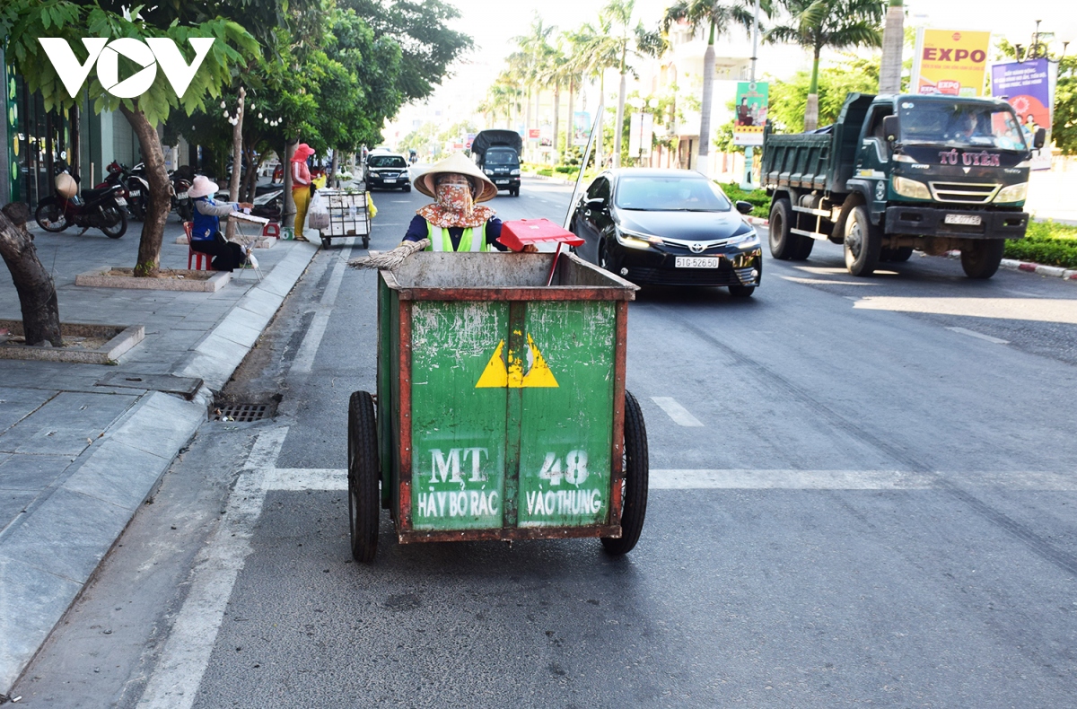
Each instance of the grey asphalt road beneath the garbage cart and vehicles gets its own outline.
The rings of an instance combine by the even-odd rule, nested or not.
[[[506,219],[560,220],[527,180]],[[372,248],[424,198],[377,193]],[[763,232],[764,238],[766,232]],[[28,707],[1063,707],[1077,696],[1077,286],[816,245],[751,300],[644,290],[639,546],[348,548],[374,277],[321,252],[15,687]],[[360,249],[354,249],[358,254]]]

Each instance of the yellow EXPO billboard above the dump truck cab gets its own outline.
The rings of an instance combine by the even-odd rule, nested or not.
[[[910,93],[981,96],[991,32],[917,30]]]

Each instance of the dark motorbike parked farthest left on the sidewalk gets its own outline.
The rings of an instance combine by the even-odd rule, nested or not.
[[[64,176],[67,176],[66,179]],[[67,165],[57,166],[56,191],[38,203],[33,219],[46,232],[58,233],[68,226],[81,226],[82,236],[86,230],[99,228],[110,239],[118,239],[127,233],[127,200],[121,196],[121,184],[109,184],[100,190],[78,192],[79,177],[71,175]]]

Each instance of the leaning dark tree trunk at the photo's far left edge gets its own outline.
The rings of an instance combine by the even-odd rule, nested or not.
[[[50,343],[62,347],[60,308],[56,286],[41,265],[33,236],[26,230],[30,208],[12,203],[0,210],[0,255],[8,264],[23,309],[23,335],[27,345]]]

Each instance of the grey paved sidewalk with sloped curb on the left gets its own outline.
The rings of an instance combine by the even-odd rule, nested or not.
[[[96,230],[32,231],[53,272],[61,322],[142,324],[145,338],[116,366],[0,360],[0,697],[206,420],[212,391],[318,251],[303,241],[258,249],[264,279],[236,272],[216,293],[85,288],[74,284],[80,273],[135,264],[141,223],[131,222],[121,239]],[[171,216],[163,267],[186,268],[187,247],[174,242],[182,234]],[[22,319],[6,269],[0,318]],[[184,387],[197,390],[190,401],[166,393]]]

